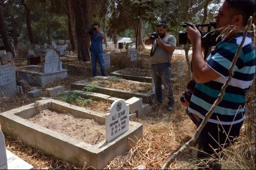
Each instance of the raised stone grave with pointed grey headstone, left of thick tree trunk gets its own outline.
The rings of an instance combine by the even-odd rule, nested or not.
[[[67,78],[67,70],[62,69],[62,62],[54,50],[48,50],[45,63],[40,65],[29,65],[16,68],[16,79],[24,79],[29,84],[47,85],[58,79]]]

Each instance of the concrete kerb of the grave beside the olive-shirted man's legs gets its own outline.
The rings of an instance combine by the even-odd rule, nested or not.
[[[135,82],[128,80],[130,82]],[[137,84],[143,83],[143,82],[135,82]],[[85,86],[90,86],[90,83],[88,83],[86,80],[81,80],[78,82],[74,82],[71,84],[72,90],[82,90]],[[164,88],[162,89],[164,91]],[[121,98],[121,99],[130,99],[132,97],[140,97],[143,99],[143,103],[151,104],[152,99],[155,99],[155,92],[145,92],[145,93],[137,93],[132,91],[124,91],[124,90],[118,90],[113,88],[105,88],[97,85],[93,92],[106,94],[109,96]]]

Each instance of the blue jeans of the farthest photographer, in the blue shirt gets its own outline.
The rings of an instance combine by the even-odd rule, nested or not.
[[[92,61],[92,66],[93,66],[93,77],[97,76],[97,61],[99,61],[99,66],[100,66],[100,71],[102,76],[106,76],[105,74],[105,62],[104,62],[104,57],[103,53],[95,53],[91,52],[91,61]]]

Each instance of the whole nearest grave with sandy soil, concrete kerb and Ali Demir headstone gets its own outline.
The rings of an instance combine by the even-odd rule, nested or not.
[[[3,133],[19,137],[47,155],[78,167],[87,162],[87,166],[102,169],[130,149],[130,139],[137,141],[142,136],[142,124],[127,119],[129,108],[123,102],[116,100],[111,113],[105,115],[45,99],[0,113],[0,123]]]

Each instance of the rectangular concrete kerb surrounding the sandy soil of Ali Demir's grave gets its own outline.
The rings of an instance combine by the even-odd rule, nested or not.
[[[3,132],[19,137],[23,143],[35,147],[45,154],[70,161],[78,167],[82,167],[86,161],[87,166],[93,166],[96,169],[103,169],[114,157],[129,150],[129,138],[136,141],[137,137],[142,136],[142,124],[130,121],[130,129],[113,141],[108,143],[103,141],[95,145],[88,144],[26,120],[44,109],[65,111],[77,117],[95,119],[99,124],[105,124],[103,113],[53,99],[45,99],[0,113]]]

